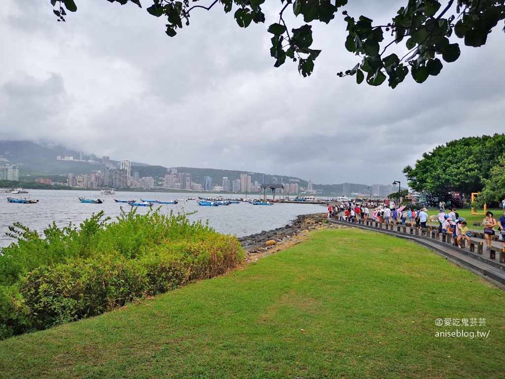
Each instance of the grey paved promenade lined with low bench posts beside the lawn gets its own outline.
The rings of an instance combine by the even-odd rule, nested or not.
[[[505,250],[501,248],[501,242],[498,241],[493,241],[490,250],[486,250],[482,230],[470,229],[474,233],[471,238],[470,249],[467,247],[459,249],[453,245],[451,238],[437,232],[438,225],[429,225],[428,228],[422,229],[411,228],[408,225],[403,227],[402,225],[392,225],[384,222],[378,223],[373,220],[367,220],[366,222],[360,220],[353,223],[331,218],[329,221],[414,241],[505,289]],[[497,239],[497,236],[495,236],[495,239]]]

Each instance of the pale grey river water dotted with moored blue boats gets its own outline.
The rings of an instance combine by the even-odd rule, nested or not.
[[[115,195],[100,195],[99,191],[69,191],[31,189],[29,195],[0,194],[0,248],[10,245],[15,240],[6,235],[9,226],[14,222],[42,232],[53,221],[58,226],[67,226],[70,222],[79,225],[93,213],[104,210],[105,216],[115,219],[121,212],[121,207],[129,211],[130,206],[126,203],[116,203],[118,200],[146,200],[173,201],[186,199],[188,196],[197,198],[209,194],[188,193],[150,193],[150,192],[116,192]],[[4,195],[4,196],[2,196]],[[235,195],[223,195],[224,197],[236,197]],[[37,204],[9,203],[7,197],[38,199]],[[81,203],[78,197],[88,199],[105,199],[103,204]],[[2,199],[3,198],[3,199]],[[178,204],[155,204],[153,209],[160,207],[160,212],[193,212],[189,215],[190,220],[206,220],[216,231],[226,234],[236,234],[238,237],[261,232],[262,230],[275,229],[289,224],[297,215],[310,213],[324,213],[326,208],[317,204],[274,204],[252,205],[249,203],[230,204],[218,207],[199,206],[195,200],[180,201]],[[145,214],[149,207],[136,207],[137,212]]]

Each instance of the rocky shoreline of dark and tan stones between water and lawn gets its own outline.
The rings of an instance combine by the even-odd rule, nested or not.
[[[238,241],[244,249],[246,260],[249,261],[254,255],[264,254],[269,250],[279,251],[285,245],[289,247],[299,243],[301,242],[301,238],[306,236],[311,230],[336,227],[339,226],[328,223],[327,213],[305,214],[297,216],[291,224],[273,230],[263,230],[260,233],[246,235],[240,237]]]

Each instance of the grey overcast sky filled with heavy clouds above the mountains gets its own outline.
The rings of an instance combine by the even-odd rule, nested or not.
[[[289,60],[273,67],[266,29],[279,1],[247,29],[221,6],[197,10],[174,38],[141,3],[76,0],[60,23],[49,0],[3,0],[0,139],[166,167],[388,184],[449,140],[505,132],[502,24],[482,48],[460,43],[460,59],[437,77],[409,76],[392,90],[337,77],[358,63],[344,48],[341,15],[313,27],[323,52],[303,78]],[[356,19],[387,23],[407,0],[350,3]]]

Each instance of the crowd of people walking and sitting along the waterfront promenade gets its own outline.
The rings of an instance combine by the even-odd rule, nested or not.
[[[504,201],[505,205],[505,201]],[[377,222],[385,222],[393,225],[407,225],[412,227],[426,227],[428,222],[428,211],[426,208],[416,207],[410,204],[408,207],[402,206],[399,208],[389,207],[386,202],[377,204],[372,203],[341,203],[338,206],[328,206],[328,217],[338,217],[341,221],[349,223],[358,222],[359,220],[373,219]],[[451,234],[455,245],[463,249],[463,241],[466,241],[467,248],[470,248],[470,238],[473,233],[469,230],[466,220],[460,217],[457,209],[452,207],[447,210],[440,207],[437,214],[438,231],[442,234]],[[486,250],[489,250],[492,245],[493,236],[495,235],[495,227],[498,228],[498,241],[501,242],[502,248],[505,248],[505,208],[503,215],[494,219],[491,211],[486,212],[486,217],[482,221],[484,227],[484,240]]]

